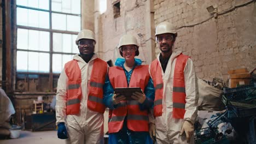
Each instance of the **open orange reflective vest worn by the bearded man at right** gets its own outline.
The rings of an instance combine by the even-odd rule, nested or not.
[[[185,82],[184,82],[184,68],[187,64],[189,56],[183,55],[182,53],[177,56],[176,64],[173,75],[173,92],[172,92],[172,103],[173,103],[173,118],[184,118],[185,113]],[[164,89],[164,82],[162,81],[162,72],[160,62],[155,59],[150,65],[150,74],[153,79],[155,87],[155,103],[154,103],[154,116],[158,117],[162,115],[162,95]]]

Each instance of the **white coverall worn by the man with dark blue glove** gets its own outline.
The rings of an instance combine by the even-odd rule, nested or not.
[[[103,143],[103,113],[91,111],[87,107],[89,93],[89,81],[92,73],[92,65],[97,55],[92,56],[86,63],[80,56],[75,55],[73,59],[78,60],[78,65],[82,75],[82,99],[80,102],[80,112],[78,115],[66,116],[67,101],[67,81],[68,77],[65,69],[62,70],[57,87],[56,95],[56,125],[65,122],[68,133],[66,143]]]

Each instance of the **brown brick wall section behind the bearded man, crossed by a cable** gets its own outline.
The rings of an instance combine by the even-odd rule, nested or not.
[[[255,1],[154,0],[154,10],[155,26],[168,21],[178,29],[175,50],[193,59],[197,77],[226,79],[228,70],[256,67]]]

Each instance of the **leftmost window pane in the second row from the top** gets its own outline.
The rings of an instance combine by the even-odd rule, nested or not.
[[[17,8],[17,25],[27,26],[28,10]]]

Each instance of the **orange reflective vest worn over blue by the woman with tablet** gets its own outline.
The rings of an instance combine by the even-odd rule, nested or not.
[[[120,67],[109,68],[109,80],[113,88],[128,87],[125,71]],[[148,65],[137,66],[131,75],[129,87],[141,87],[144,92],[149,81]],[[127,116],[127,128],[132,131],[148,131],[148,111],[139,109],[137,100],[124,100],[116,109],[109,111],[108,133],[117,133],[123,128]]]

